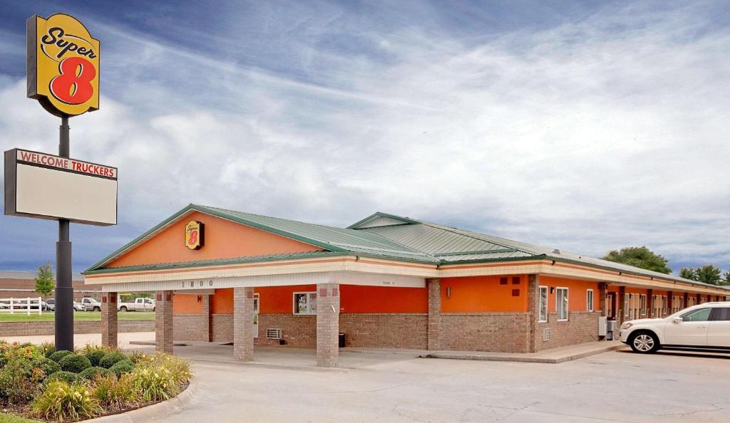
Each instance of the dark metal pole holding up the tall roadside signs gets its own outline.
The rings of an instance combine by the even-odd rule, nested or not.
[[[58,155],[69,157],[69,117],[61,117]],[[68,219],[58,220],[55,243],[55,349],[74,350],[74,287],[71,279],[71,238]]]

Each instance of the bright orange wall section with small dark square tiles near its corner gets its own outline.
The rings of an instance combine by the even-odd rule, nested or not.
[[[441,279],[441,311],[444,313],[474,313],[489,311],[527,311],[527,276],[507,276],[507,284],[499,284],[505,276],[472,276]],[[519,277],[519,284],[512,278]],[[450,288],[450,296],[449,296]],[[512,296],[519,290],[519,296]]]

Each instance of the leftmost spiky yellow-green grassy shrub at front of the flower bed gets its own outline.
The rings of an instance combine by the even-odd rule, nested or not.
[[[34,413],[47,420],[91,419],[103,411],[84,385],[51,381],[32,403]]]

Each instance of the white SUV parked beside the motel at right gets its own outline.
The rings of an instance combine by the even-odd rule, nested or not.
[[[664,319],[629,320],[619,335],[640,353],[672,347],[730,352],[730,301],[698,304]]]

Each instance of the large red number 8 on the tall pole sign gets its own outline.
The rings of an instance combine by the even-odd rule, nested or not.
[[[58,64],[61,74],[51,79],[50,91],[66,104],[83,104],[93,96],[91,80],[96,69],[85,58],[65,58]]]

